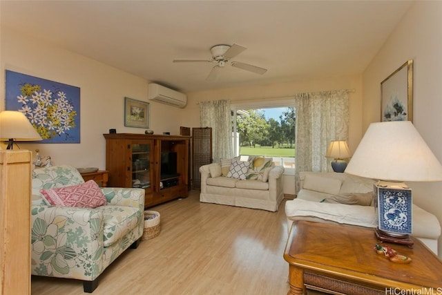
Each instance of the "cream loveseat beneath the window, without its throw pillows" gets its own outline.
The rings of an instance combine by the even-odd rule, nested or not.
[[[200,167],[200,202],[278,211],[279,204],[284,198],[282,191],[284,167],[273,166],[269,171],[267,182],[238,180],[213,171],[221,171],[221,164],[212,163]]]

